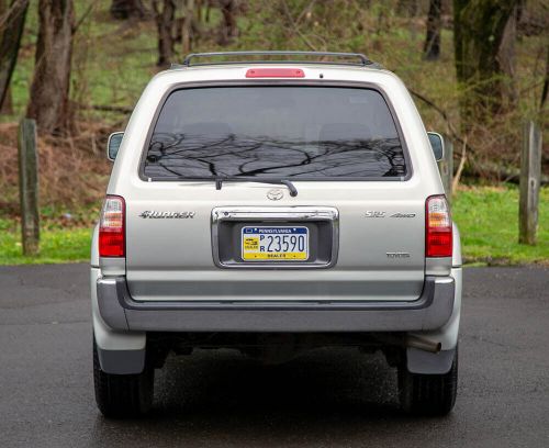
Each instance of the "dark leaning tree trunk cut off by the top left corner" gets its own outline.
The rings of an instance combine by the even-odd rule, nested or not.
[[[0,108],[18,60],[29,0],[12,0],[8,9],[5,4],[5,0],[0,1]]]

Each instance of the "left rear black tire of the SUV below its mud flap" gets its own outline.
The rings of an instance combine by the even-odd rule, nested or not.
[[[96,402],[105,417],[125,418],[146,414],[153,405],[154,373],[152,368],[145,368],[139,374],[103,372],[93,338]]]

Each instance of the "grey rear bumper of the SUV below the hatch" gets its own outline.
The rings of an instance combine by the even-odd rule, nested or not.
[[[411,302],[137,302],[124,277],[97,280],[98,307],[115,331],[423,332],[444,326],[455,301],[451,277],[426,277]]]

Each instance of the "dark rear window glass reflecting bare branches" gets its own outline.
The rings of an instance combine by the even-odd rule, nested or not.
[[[338,87],[172,92],[146,149],[153,180],[402,178],[404,149],[383,97]]]

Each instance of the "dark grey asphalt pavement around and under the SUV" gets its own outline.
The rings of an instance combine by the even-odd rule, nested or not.
[[[109,421],[91,373],[86,265],[0,268],[0,447],[549,447],[549,268],[464,271],[458,401],[413,418],[379,355],[281,366],[169,358],[154,412]]]

